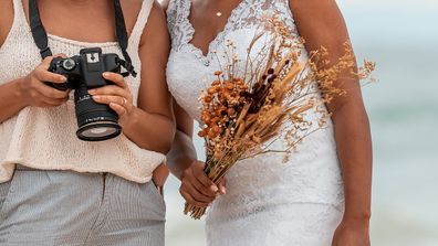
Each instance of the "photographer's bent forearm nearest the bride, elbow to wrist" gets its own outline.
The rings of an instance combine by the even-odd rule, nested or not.
[[[124,135],[142,149],[167,153],[175,136],[174,121],[166,116],[149,114],[134,108],[128,122],[123,126]]]

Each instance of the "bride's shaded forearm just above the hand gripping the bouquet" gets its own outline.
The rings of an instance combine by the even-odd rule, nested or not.
[[[181,179],[182,172],[197,159],[191,138],[182,131],[177,130],[170,152],[167,154],[167,165],[170,172],[178,179]]]

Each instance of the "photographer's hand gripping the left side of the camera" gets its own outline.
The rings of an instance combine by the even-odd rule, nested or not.
[[[56,107],[69,99],[70,90],[62,92],[45,84],[66,82],[66,77],[48,71],[52,60],[53,56],[45,57],[34,71],[21,79],[19,87],[27,106]]]

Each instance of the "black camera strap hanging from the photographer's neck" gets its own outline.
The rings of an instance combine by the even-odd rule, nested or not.
[[[122,73],[123,76],[128,76],[129,74],[134,77],[137,73],[134,69],[132,60],[126,49],[128,46],[128,35],[126,31],[125,18],[123,15],[123,10],[119,0],[114,0],[114,11],[115,11],[115,23],[116,23],[116,36],[118,45],[121,46],[123,56],[125,60],[119,60],[119,64],[125,67],[126,73]],[[52,55],[52,51],[49,47],[48,33],[45,32],[44,25],[41,22],[40,11],[38,9],[36,0],[29,0],[29,20],[32,31],[33,40],[40,49],[40,54],[42,58]]]

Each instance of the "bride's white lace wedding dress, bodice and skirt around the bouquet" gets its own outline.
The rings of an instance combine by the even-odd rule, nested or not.
[[[199,120],[200,92],[213,81],[227,40],[234,42],[244,60],[263,17],[278,14],[298,32],[288,0],[242,0],[205,56],[190,43],[195,33],[188,19],[190,7],[190,0],[171,0],[168,7],[173,45],[167,76],[178,104]],[[208,245],[331,245],[344,210],[332,122],[307,137],[288,163],[282,163],[282,158],[259,156],[230,170],[228,193],[208,212]]]

